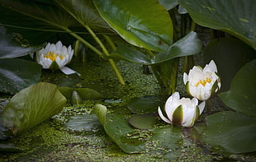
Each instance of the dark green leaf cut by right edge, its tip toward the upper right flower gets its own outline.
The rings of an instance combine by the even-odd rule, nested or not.
[[[242,67],[233,79],[230,90],[221,93],[221,100],[231,109],[256,117],[256,59]]]

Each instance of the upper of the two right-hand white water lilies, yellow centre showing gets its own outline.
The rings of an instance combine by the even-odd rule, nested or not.
[[[211,60],[203,69],[194,66],[188,73],[183,74],[187,93],[198,100],[208,100],[211,95],[220,90],[220,76],[217,75],[216,63]]]

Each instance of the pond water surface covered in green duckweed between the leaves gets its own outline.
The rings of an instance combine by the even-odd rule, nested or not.
[[[111,67],[105,61],[94,60],[94,62],[80,63],[73,60],[69,66],[81,73],[82,76],[64,76],[61,72],[44,71],[41,81],[48,81],[59,86],[92,88],[107,96],[106,99],[83,100],[82,104],[77,105],[70,104],[69,100],[61,113],[19,137],[6,141],[12,146],[12,152],[1,152],[1,161],[256,160],[254,155],[220,155],[208,150],[209,147],[202,144],[194,133],[201,132],[201,127],[205,124],[206,113],[201,115],[195,128],[184,128],[182,130],[181,140],[175,143],[178,146],[177,148],[169,149],[168,147],[158,146],[156,142],[151,143],[152,145],[147,147],[148,150],[145,153],[127,154],[107,136],[94,113],[95,104],[105,105],[107,113],[127,114],[127,118],[130,118],[133,113],[140,111],[136,110],[136,105],[129,104],[130,99],[141,99],[142,102],[145,102],[146,107],[150,104],[154,105],[155,102],[161,104],[161,100],[165,100],[168,96],[163,95],[164,90],[159,87],[154,75],[144,74],[143,67],[139,64],[117,62],[117,66],[126,81],[126,86],[119,84]],[[181,78],[181,74],[178,78]],[[178,81],[178,89],[182,90],[182,86],[182,80]],[[185,92],[181,93],[185,94]],[[145,96],[154,97],[147,98]],[[151,99],[157,100],[152,102]],[[127,104],[130,106],[127,106]],[[212,109],[213,112],[218,111],[217,108],[223,108],[220,100],[213,100],[213,105],[218,105],[215,106],[216,109]],[[155,105],[155,111],[157,108],[158,106]],[[160,120],[157,124],[160,128],[166,128],[166,123]],[[180,130],[180,128],[177,129]],[[151,132],[146,130],[135,129],[133,133],[132,135],[126,134],[126,137],[138,137],[143,142],[149,140],[148,138],[152,136]],[[13,146],[17,146],[17,150],[13,149]]]

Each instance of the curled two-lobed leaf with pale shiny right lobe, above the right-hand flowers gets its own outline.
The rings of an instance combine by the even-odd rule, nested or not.
[[[182,39],[168,47],[164,53],[157,53],[153,58],[149,58],[145,53],[131,47],[120,44],[117,49],[111,53],[112,58],[121,58],[129,62],[142,63],[145,65],[154,65],[161,62],[167,62],[172,58],[188,56],[200,53],[201,40],[198,39],[197,33],[190,32]]]

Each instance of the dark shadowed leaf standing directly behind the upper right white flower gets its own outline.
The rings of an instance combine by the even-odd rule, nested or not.
[[[214,39],[203,52],[204,64],[212,59],[218,67],[221,79],[221,91],[230,89],[235,74],[246,62],[256,58],[256,51],[239,39]]]

